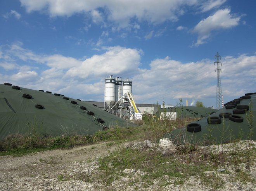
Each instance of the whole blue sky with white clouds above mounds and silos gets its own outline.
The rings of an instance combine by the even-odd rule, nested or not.
[[[216,107],[256,92],[256,1],[1,0],[0,84],[104,101],[109,75],[137,103]]]

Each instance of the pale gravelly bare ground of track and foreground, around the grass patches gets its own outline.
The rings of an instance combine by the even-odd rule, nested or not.
[[[144,142],[150,145],[149,142]],[[125,147],[144,148],[143,142],[125,144]],[[256,145],[255,141],[251,141]],[[217,145],[201,147],[202,150],[213,152],[230,152],[233,148],[246,150],[248,142],[239,142],[237,147],[225,144],[221,148]],[[152,145],[151,145],[152,146]],[[148,146],[147,146],[148,147]],[[153,146],[152,146],[153,147]],[[206,171],[209,184],[201,180],[199,176],[190,176],[183,184],[175,184],[177,178],[164,175],[159,179],[151,180],[152,185],[145,186],[142,178],[147,172],[135,169],[124,169],[117,180],[106,185],[100,179],[90,179],[94,174],[100,174],[98,159],[101,156],[112,152],[116,146],[107,146],[105,143],[79,147],[71,150],[52,150],[47,152],[33,153],[23,157],[4,156],[0,157],[0,190],[1,191],[207,191],[214,190],[214,184],[220,183],[220,191],[256,191],[256,165],[255,159],[251,161],[250,172],[246,164],[240,164],[243,172],[248,174],[254,181],[241,182],[235,178],[234,168],[225,163],[218,168],[218,171]],[[150,149],[150,148],[149,148]],[[108,152],[109,151],[109,152]],[[173,151],[173,150],[172,150]],[[103,155],[100,153],[104,152]],[[95,154],[97,153],[97,154]],[[111,164],[110,164],[111,165]],[[225,173],[227,172],[227,173]],[[216,182],[218,177],[220,182]],[[83,180],[83,181],[82,181]],[[161,182],[164,180],[164,185]],[[211,180],[213,180],[211,182]]]

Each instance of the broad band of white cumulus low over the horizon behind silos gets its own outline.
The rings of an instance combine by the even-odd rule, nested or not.
[[[180,97],[203,102],[216,96],[214,60],[183,63],[166,56],[152,60],[149,68],[141,68],[143,52],[121,46],[106,47],[100,50],[101,54],[83,61],[63,55],[36,55],[23,48],[21,43],[1,48],[1,67],[2,63],[11,63],[5,70],[0,70],[2,84],[10,82],[73,98],[103,101],[104,78],[116,75],[133,77],[133,95],[139,103],[153,104],[164,100],[168,104],[176,104]],[[25,53],[25,58],[19,56],[21,53]],[[256,56],[247,55],[222,57],[224,99],[230,101],[234,96],[255,91],[255,60]]]

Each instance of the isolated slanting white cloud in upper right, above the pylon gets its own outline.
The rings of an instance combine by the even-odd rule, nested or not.
[[[218,10],[207,17],[204,20],[201,20],[193,29],[192,32],[198,34],[197,42],[194,46],[199,46],[206,43],[207,39],[210,37],[211,32],[214,30],[228,29],[235,27],[239,24],[240,17],[233,17],[230,14],[230,9]]]

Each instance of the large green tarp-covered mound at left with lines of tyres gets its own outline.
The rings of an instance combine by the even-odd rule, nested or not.
[[[93,135],[114,126],[135,126],[83,101],[0,84],[0,139],[10,134],[43,133],[57,135]]]

